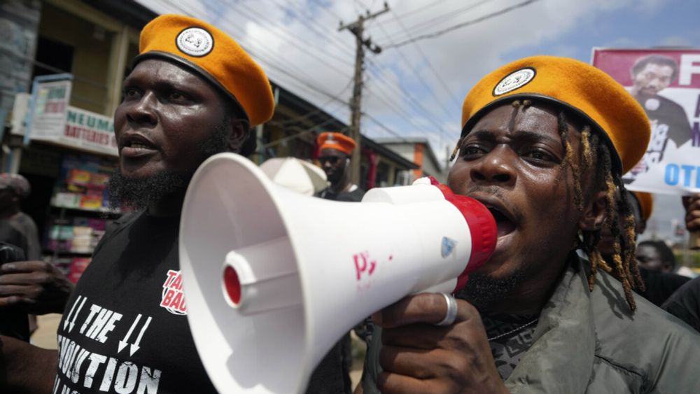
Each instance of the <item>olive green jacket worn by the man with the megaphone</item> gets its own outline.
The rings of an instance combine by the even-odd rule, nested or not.
[[[700,393],[700,335],[642,297],[630,313],[604,272],[589,292],[582,262],[564,273],[540,313],[533,344],[505,381],[511,393]],[[377,393],[381,332],[363,374]]]

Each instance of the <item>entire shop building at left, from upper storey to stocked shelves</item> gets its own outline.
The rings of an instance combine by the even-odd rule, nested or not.
[[[112,114],[139,30],[155,14],[131,1],[25,0],[0,8],[0,24],[13,36],[0,45],[0,115],[12,119],[2,136],[2,171],[31,184],[22,211],[36,222],[44,258],[75,281],[119,215],[105,192],[117,165]]]

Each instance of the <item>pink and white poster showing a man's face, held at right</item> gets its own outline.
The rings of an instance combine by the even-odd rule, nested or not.
[[[700,49],[594,48],[593,65],[644,108],[647,152],[624,174],[629,190],[687,195],[700,191]]]

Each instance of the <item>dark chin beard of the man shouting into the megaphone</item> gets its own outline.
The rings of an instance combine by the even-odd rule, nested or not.
[[[493,302],[509,295],[524,279],[521,270],[512,272],[505,278],[492,278],[486,274],[469,274],[466,286],[457,290],[454,296],[466,300],[480,312],[488,311]]]

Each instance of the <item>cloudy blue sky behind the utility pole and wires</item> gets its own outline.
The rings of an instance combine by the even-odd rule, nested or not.
[[[139,0],[156,12],[188,13],[227,31],[269,78],[348,122],[354,37],[339,22],[381,0]],[[513,6],[522,0],[389,0],[367,22],[385,49],[367,54],[363,134],[428,136],[444,160],[461,125],[461,101],[491,69],[519,57],[561,55],[590,61],[591,48],[700,46],[698,0],[539,0],[437,38],[387,48]],[[661,197],[652,227],[671,237],[682,219],[676,197]]]

